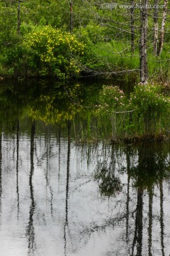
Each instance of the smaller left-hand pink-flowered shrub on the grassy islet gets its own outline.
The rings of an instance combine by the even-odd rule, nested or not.
[[[118,86],[103,86],[94,114],[98,118],[98,124],[103,124],[103,130],[106,134],[110,134],[114,141],[125,134],[127,107],[128,99],[123,90],[120,90]]]

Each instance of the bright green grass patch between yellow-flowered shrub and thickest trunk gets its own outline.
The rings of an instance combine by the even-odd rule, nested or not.
[[[90,40],[89,40],[90,41]],[[90,41],[91,42],[91,41]],[[86,41],[88,43],[88,41]],[[120,73],[127,75],[128,70],[137,70],[140,65],[139,53],[136,50],[135,55],[130,53],[130,42],[120,41],[99,41],[95,44],[89,44],[85,48],[85,63],[91,70],[97,70],[98,73]]]

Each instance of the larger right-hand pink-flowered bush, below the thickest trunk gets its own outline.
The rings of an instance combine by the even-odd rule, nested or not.
[[[135,86],[130,95],[130,108],[135,110],[132,124],[135,131],[159,134],[169,127],[170,99],[162,92],[162,86],[154,83]]]

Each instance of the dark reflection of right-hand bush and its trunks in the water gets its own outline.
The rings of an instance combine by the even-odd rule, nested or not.
[[[161,225],[161,246],[164,255],[164,209],[163,209],[163,188],[164,178],[169,177],[170,162],[167,153],[154,144],[140,144],[138,148],[137,165],[130,169],[130,176],[133,186],[137,188],[137,207],[135,219],[135,235],[132,243],[132,255],[135,244],[137,244],[137,255],[142,255],[142,211],[143,211],[143,191],[149,193],[149,228],[148,228],[148,251],[152,255],[152,204],[153,190],[157,184],[160,188],[160,225]]]

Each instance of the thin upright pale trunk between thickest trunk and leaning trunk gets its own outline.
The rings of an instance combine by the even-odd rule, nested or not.
[[[154,55],[158,53],[158,8],[159,0],[154,0]]]

